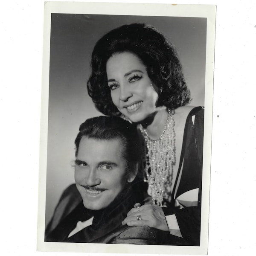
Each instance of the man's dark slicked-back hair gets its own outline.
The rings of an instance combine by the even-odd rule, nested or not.
[[[97,116],[87,119],[80,125],[75,140],[76,157],[83,136],[95,140],[121,140],[120,151],[126,161],[128,173],[136,172],[137,163],[141,159],[142,144],[134,124],[116,116]]]

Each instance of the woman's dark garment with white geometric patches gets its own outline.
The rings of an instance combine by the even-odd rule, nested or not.
[[[170,233],[184,245],[200,245],[203,137],[204,108],[196,107],[186,119],[171,204],[162,208]]]

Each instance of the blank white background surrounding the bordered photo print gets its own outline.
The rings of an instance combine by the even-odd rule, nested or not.
[[[253,255],[256,3],[172,3],[217,5],[208,254]],[[43,0],[0,2],[2,255],[59,254],[36,252],[43,20]]]

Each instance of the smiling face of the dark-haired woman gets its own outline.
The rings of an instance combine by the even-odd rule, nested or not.
[[[131,52],[116,53],[106,70],[113,103],[131,122],[141,122],[156,111],[158,94],[140,58]]]

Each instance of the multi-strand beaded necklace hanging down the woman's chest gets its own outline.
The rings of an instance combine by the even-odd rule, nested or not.
[[[151,190],[154,204],[163,206],[163,198],[169,201],[170,186],[173,177],[173,165],[175,164],[175,131],[174,110],[168,109],[168,117],[162,134],[157,140],[152,140],[147,131],[140,124],[139,129],[145,140],[144,172],[145,181]],[[166,190],[167,194],[166,194]]]

